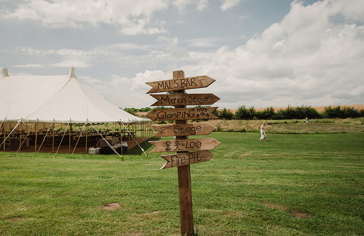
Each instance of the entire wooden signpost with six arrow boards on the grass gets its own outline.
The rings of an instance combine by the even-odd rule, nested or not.
[[[173,71],[172,80],[147,82],[152,88],[147,93],[173,91],[173,94],[151,94],[157,101],[151,106],[174,106],[171,109],[153,109],[145,116],[154,121],[174,120],[173,125],[153,125],[158,132],[153,137],[174,136],[172,140],[149,141],[154,152],[175,152],[161,156],[167,162],[161,169],[177,167],[181,235],[194,235],[190,164],[209,161],[214,149],[221,143],[213,138],[188,139],[189,135],[208,135],[216,128],[208,123],[187,124],[187,120],[217,119],[213,114],[217,107],[195,107],[211,105],[219,98],[212,93],[186,94],[186,89],[205,88],[215,80],[209,76],[186,77],[183,71]],[[191,152],[189,152],[191,151]]]

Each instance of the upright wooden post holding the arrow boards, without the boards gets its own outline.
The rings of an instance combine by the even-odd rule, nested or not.
[[[185,72],[173,71],[173,79],[179,79],[184,77]],[[186,91],[179,90],[174,91],[174,93],[186,93]],[[186,108],[186,106],[175,106],[174,108]],[[187,124],[187,120],[176,120],[175,124]],[[188,139],[188,136],[176,136],[176,139]],[[178,166],[177,168],[181,235],[194,235],[190,165]]]

